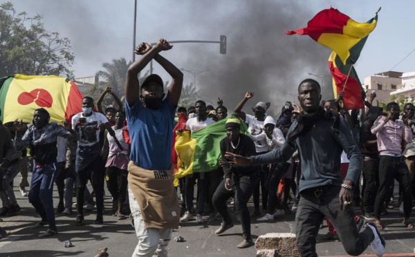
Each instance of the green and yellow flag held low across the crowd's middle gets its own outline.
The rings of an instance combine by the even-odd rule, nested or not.
[[[190,131],[178,132],[176,136],[177,172],[175,178],[199,172],[213,171],[221,160],[221,140],[226,137],[225,123],[234,115],[210,124],[190,135]],[[241,134],[248,135],[246,124],[241,121]]]

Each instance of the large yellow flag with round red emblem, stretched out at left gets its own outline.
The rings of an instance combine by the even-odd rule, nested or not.
[[[82,112],[83,95],[75,83],[57,76],[17,74],[0,78],[1,121],[16,119],[32,122],[37,108],[45,108],[50,122],[71,122],[71,116]]]

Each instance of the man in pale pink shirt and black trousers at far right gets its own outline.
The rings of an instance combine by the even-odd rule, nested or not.
[[[379,151],[379,188],[375,200],[374,222],[378,229],[383,229],[380,213],[387,189],[396,179],[403,188],[403,223],[405,227],[415,229],[414,223],[409,220],[412,211],[412,181],[401,146],[403,140],[405,143],[412,142],[412,131],[407,115],[403,115],[402,122],[398,120],[400,108],[396,102],[387,104],[386,111],[387,116],[379,116],[371,128],[371,133],[376,134]]]

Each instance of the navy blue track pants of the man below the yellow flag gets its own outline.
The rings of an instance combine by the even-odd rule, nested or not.
[[[29,202],[35,207],[42,220],[49,223],[51,229],[56,227],[52,198],[56,169],[56,162],[44,166],[34,166],[28,196]]]

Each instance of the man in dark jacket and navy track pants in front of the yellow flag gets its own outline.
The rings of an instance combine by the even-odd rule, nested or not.
[[[15,120],[15,146],[21,151],[30,147],[35,160],[32,181],[30,182],[29,202],[35,207],[42,220],[34,225],[33,229],[40,229],[49,224],[49,229],[39,235],[46,238],[57,234],[55,213],[53,211],[53,180],[57,169],[57,137],[76,138],[77,133],[71,129],[71,124],[62,122],[64,127],[56,122],[49,123],[50,115],[44,108],[33,113],[33,126],[30,126],[23,137],[21,136],[22,122]]]

